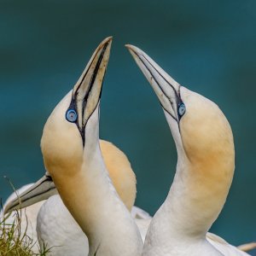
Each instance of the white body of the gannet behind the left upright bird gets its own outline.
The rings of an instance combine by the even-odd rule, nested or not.
[[[132,217],[135,218],[141,236],[145,239],[151,218]],[[41,207],[38,212],[37,230],[40,246],[45,243],[47,247],[51,247],[49,255],[84,256],[89,253],[87,236],[68,212],[60,195],[51,196]]]

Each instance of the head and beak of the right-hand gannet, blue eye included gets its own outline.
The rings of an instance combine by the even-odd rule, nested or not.
[[[204,166],[224,161],[233,172],[233,136],[224,113],[214,102],[178,84],[143,50],[127,47],[160,100],[178,158]]]

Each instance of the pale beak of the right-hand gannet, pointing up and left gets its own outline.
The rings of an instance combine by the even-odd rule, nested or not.
[[[183,103],[180,96],[180,84],[172,79],[142,49],[131,44],[126,44],[125,46],[129,49],[148,82],[152,85],[162,108],[178,122],[180,119],[178,108]]]

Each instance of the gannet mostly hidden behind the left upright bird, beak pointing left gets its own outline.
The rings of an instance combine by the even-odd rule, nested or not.
[[[144,240],[151,217],[147,212],[133,206],[137,191],[136,177],[131,169],[130,161],[113,143],[100,140],[100,147],[113,185],[120,199],[131,211],[131,216],[135,218]],[[57,190],[50,178],[43,177],[35,184],[28,184],[18,189],[16,193],[20,195],[19,198],[13,193],[3,209],[5,212],[10,212],[26,206],[21,210],[20,233],[22,235],[26,232],[26,235],[32,237],[34,241],[38,239],[41,248],[45,245],[50,248],[49,255],[82,256],[88,254],[87,237],[68,212],[60,195],[56,194]],[[48,200],[40,201],[46,199]],[[14,219],[15,216],[10,215],[8,223],[12,224]],[[32,247],[34,253],[38,253],[39,245],[35,243]]]

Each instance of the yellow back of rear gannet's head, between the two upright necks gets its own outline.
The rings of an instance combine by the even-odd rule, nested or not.
[[[136,198],[136,176],[126,155],[113,143],[100,140],[103,160],[120,199],[131,211]]]

